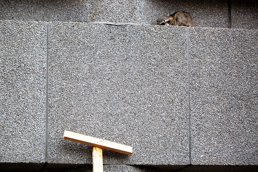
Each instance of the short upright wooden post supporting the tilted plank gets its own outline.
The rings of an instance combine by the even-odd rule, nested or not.
[[[102,149],[92,146],[93,172],[103,172]]]

